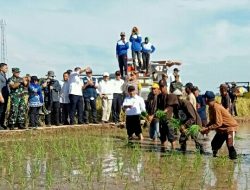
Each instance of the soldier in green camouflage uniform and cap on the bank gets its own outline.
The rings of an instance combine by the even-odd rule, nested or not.
[[[10,88],[10,113],[8,124],[10,130],[13,130],[15,127],[25,129],[26,103],[24,88],[28,85],[28,81],[19,76],[19,68],[12,68],[12,73],[13,76],[8,79]]]

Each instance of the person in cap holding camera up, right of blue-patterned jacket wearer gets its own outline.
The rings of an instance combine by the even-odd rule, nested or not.
[[[55,79],[54,71],[48,71],[47,79],[42,83],[44,91],[44,104],[50,114],[45,115],[45,124],[50,127],[51,124],[59,126],[59,113],[60,113],[60,91],[61,86],[58,80]],[[53,120],[51,119],[51,116]]]

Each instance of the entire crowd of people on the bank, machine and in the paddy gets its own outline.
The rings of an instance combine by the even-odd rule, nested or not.
[[[37,76],[26,75],[20,77],[20,69],[12,68],[12,76],[7,79],[8,65],[0,64],[0,129],[15,128],[25,129],[28,113],[29,127],[40,126],[39,115],[45,115],[46,126],[59,126],[74,124],[121,122],[120,113],[123,109],[126,115],[126,129],[128,139],[138,138],[142,140],[141,114],[147,113],[147,121],[150,124],[149,137],[156,141],[160,139],[163,147],[171,144],[171,149],[176,149],[177,134],[179,133],[180,149],[187,149],[187,129],[192,125],[202,126],[200,133],[208,134],[216,131],[212,140],[213,155],[221,148],[224,141],[227,143],[229,157],[237,158],[234,148],[234,136],[238,123],[233,118],[237,115],[235,100],[236,91],[230,91],[227,84],[220,86],[221,104],[215,101],[215,94],[206,91],[200,95],[199,88],[191,82],[183,85],[179,69],[173,73],[162,74],[158,83],[153,83],[151,92],[146,101],[140,96],[141,84],[138,81],[138,73],[141,70],[149,72],[150,54],[155,47],[149,43],[149,38],[141,43],[141,36],[137,27],[132,29],[130,36],[134,70],[127,71],[127,50],[129,43],[125,33],[121,33],[121,39],[117,42],[116,52],[120,70],[115,72],[115,78],[110,79],[110,74],[104,72],[102,80],[93,76],[90,67],[76,67],[63,73],[63,80],[56,79],[54,71],[48,71],[44,80]],[[142,58],[141,60],[141,53]],[[139,67],[136,66],[136,59]],[[83,73],[85,75],[83,76]],[[82,77],[83,76],[83,77]],[[126,76],[126,77],[125,77]],[[125,80],[124,80],[125,79]],[[235,88],[235,86],[234,86]],[[232,88],[230,88],[232,89]],[[28,99],[26,99],[28,95]],[[101,121],[97,117],[97,98],[102,102]],[[6,118],[8,100],[10,108]],[[209,117],[207,117],[207,106]],[[156,117],[157,110],[166,114],[166,120]],[[180,131],[170,127],[171,118],[179,119]],[[6,123],[6,124],[5,124]],[[135,136],[133,136],[135,134]],[[192,135],[197,150],[204,153],[203,142]]]

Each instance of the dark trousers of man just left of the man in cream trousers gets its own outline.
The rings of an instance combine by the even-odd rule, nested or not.
[[[97,122],[97,111],[96,111],[96,99],[90,100],[89,98],[84,98],[84,115],[83,119],[85,123],[89,122],[89,112],[92,112],[92,121]]]

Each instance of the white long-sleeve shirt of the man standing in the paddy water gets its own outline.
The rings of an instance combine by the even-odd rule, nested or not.
[[[140,115],[141,112],[146,111],[145,102],[143,98],[138,95],[135,95],[134,97],[127,96],[124,99],[122,106],[132,106],[125,110],[126,115]]]

